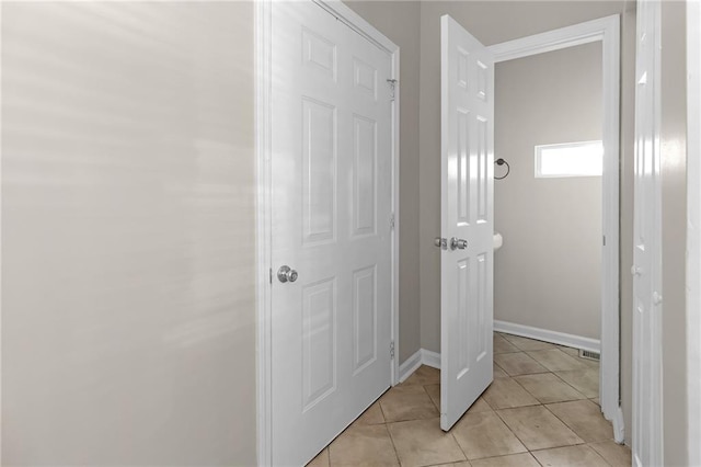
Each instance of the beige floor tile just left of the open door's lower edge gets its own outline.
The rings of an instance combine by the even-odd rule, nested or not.
[[[380,407],[388,422],[433,419],[440,413],[423,386],[399,385],[380,397]]]

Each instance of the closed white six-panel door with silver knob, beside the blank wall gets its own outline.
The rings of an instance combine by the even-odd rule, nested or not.
[[[313,2],[273,2],[272,31],[272,463],[283,466],[309,462],[391,384],[392,69]]]

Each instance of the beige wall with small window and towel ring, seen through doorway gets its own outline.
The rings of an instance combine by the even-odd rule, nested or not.
[[[496,320],[600,337],[601,176],[536,178],[533,148],[601,139],[601,73],[600,42],[496,65]]]

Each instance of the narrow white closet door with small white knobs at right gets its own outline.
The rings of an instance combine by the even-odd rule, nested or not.
[[[633,180],[633,465],[663,465],[660,2],[637,3]]]

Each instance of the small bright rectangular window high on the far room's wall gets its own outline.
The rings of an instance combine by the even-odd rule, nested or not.
[[[536,178],[601,176],[601,141],[536,146]]]

